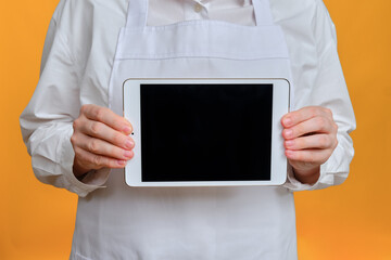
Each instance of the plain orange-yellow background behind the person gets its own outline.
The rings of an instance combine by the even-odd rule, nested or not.
[[[70,253],[77,197],[35,179],[18,127],[56,3],[0,3],[0,259]],[[295,194],[299,257],[391,259],[391,1],[325,3],[356,114],[356,156],[342,185]]]

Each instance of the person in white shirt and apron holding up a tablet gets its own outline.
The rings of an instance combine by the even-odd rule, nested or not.
[[[80,196],[71,258],[297,259],[291,192],[343,182],[353,156],[335,37],[319,0],[61,1],[21,126],[37,178]],[[126,186],[127,77],[288,78],[287,183]]]

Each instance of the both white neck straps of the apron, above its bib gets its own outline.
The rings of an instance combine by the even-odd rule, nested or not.
[[[129,0],[126,21],[127,28],[140,28],[147,26],[148,2],[148,0]],[[254,8],[256,26],[274,24],[269,0],[252,0],[252,4]]]

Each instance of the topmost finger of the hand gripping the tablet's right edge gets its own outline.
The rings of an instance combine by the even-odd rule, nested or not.
[[[281,123],[285,128],[290,128],[302,121],[319,116],[324,116],[332,120],[332,113],[330,109],[321,106],[306,106],[285,115],[281,118]]]

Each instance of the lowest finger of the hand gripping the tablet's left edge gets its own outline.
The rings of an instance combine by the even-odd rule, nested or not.
[[[118,160],[111,157],[94,155],[80,147],[75,147],[75,154],[80,164],[87,169],[99,170],[101,168],[124,168],[126,160]]]

